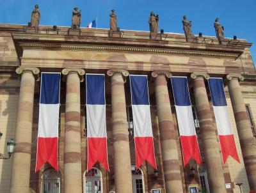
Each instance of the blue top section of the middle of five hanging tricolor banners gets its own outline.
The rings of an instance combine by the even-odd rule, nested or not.
[[[147,76],[130,75],[132,105],[149,105]]]

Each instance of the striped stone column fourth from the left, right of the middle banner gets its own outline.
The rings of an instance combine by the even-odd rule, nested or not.
[[[154,71],[152,72],[152,77],[156,78],[155,93],[166,193],[183,192],[176,143],[177,137],[175,136],[172,109],[165,78],[172,77],[172,73]]]

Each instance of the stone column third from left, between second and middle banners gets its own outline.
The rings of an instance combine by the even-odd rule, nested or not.
[[[131,157],[125,105],[124,78],[126,70],[108,70],[111,76],[115,191],[132,193]]]

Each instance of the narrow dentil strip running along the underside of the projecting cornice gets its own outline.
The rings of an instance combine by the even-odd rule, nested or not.
[[[170,55],[188,55],[188,56],[208,56],[222,58],[237,58],[239,52],[218,52],[209,50],[190,50],[175,48],[152,48],[135,46],[117,46],[117,45],[84,45],[68,43],[42,43],[42,42],[19,42],[22,49],[49,49],[49,50],[91,50],[91,51],[109,51],[109,52],[135,52],[145,54],[170,54]]]

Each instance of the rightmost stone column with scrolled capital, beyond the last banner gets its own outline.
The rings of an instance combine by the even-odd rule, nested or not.
[[[236,74],[227,75],[228,91],[236,120],[236,127],[244,158],[244,166],[250,189],[256,192],[256,143],[248,120],[243,95],[238,81],[244,77]]]

